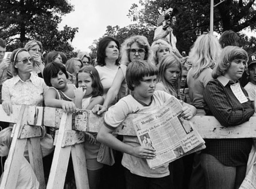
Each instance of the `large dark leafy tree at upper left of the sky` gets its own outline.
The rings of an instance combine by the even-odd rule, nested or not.
[[[22,47],[28,40],[40,41],[46,52],[70,54],[70,45],[78,28],[58,30],[61,16],[73,11],[67,0],[1,0],[0,37],[7,45]]]

